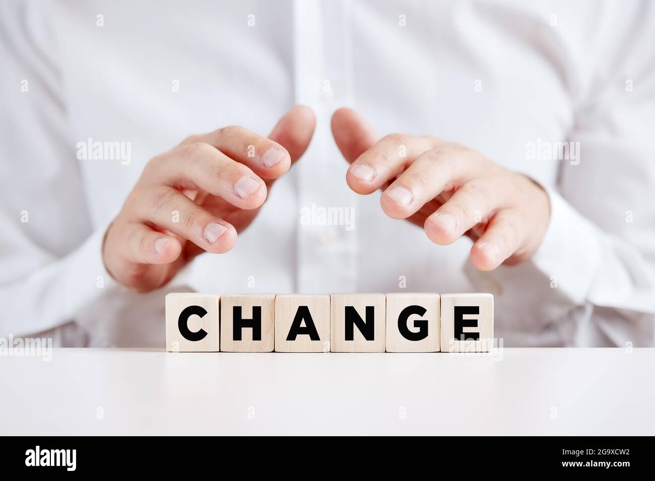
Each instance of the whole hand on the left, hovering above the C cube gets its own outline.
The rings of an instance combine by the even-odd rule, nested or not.
[[[196,255],[232,249],[273,181],[305,152],[315,125],[311,109],[297,105],[269,138],[226,127],[150,160],[105,234],[109,274],[134,291],[151,291]]]

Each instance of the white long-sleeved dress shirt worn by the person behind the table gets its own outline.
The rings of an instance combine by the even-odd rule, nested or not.
[[[650,1],[3,1],[0,337],[164,346],[181,290],[491,292],[504,346],[652,346],[653,45]],[[309,150],[232,251],[148,294],[111,279],[103,234],[150,158],[221,126],[267,135],[296,103]],[[536,255],[478,272],[468,238],[435,245],[350,191],[342,106],[531,175],[552,202]],[[88,139],[130,159],[80,159]],[[548,153],[565,141],[576,155]],[[312,204],[352,228],[301,222]]]

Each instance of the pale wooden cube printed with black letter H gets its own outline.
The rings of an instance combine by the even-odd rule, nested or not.
[[[221,351],[271,352],[275,294],[221,296]]]

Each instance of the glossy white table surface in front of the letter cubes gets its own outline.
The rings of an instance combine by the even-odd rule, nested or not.
[[[54,349],[0,380],[5,435],[655,434],[655,349]]]

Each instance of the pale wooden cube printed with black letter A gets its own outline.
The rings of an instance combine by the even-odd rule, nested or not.
[[[327,294],[275,296],[275,350],[329,352],[329,311]]]

